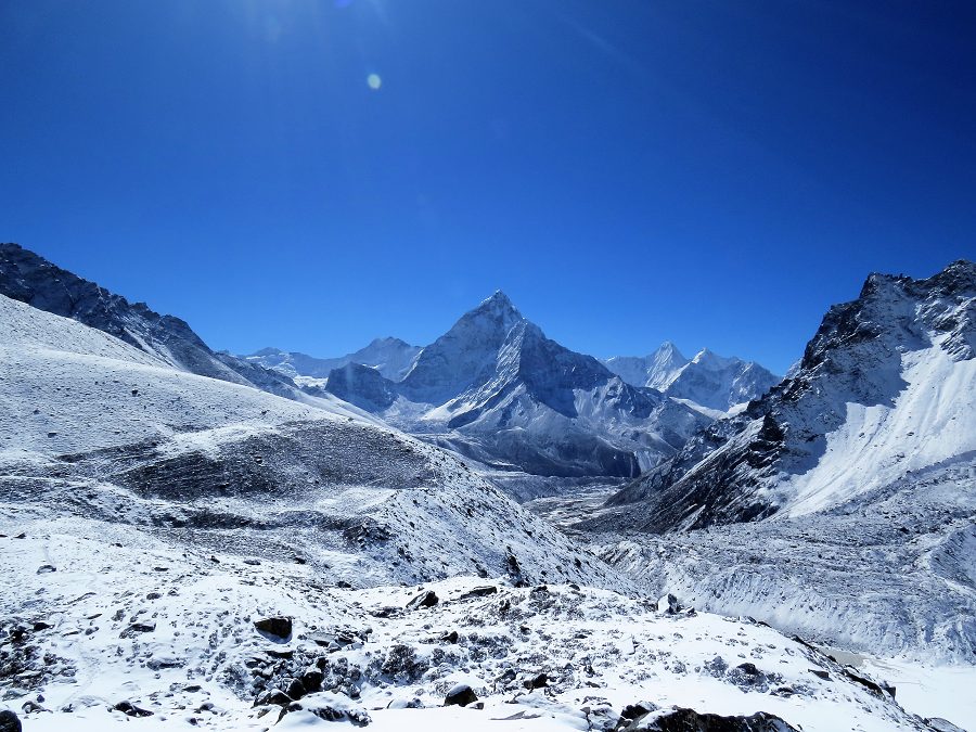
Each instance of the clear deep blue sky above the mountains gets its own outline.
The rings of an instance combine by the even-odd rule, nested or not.
[[[500,288],[782,373],[870,271],[976,258],[976,3],[4,0],[0,239],[234,352]]]

